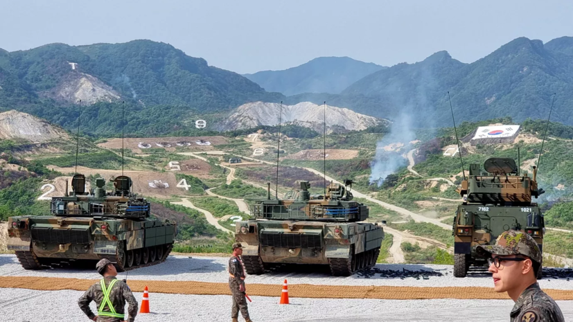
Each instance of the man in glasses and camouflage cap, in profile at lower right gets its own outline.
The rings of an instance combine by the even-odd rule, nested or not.
[[[543,257],[537,242],[522,231],[504,231],[495,245],[478,246],[488,257],[495,292],[507,292],[515,302],[511,322],[565,322],[563,314],[537,283]]]

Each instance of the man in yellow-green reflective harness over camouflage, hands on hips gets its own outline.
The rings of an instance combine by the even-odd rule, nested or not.
[[[107,259],[100,260],[96,264],[98,273],[103,278],[98,283],[91,285],[89,289],[80,297],[78,304],[87,317],[98,322],[133,322],[137,315],[137,301],[127,284],[117,280],[116,267]],[[98,315],[94,315],[89,308],[89,303],[96,301],[98,305]],[[124,321],[125,301],[130,303],[129,319]]]

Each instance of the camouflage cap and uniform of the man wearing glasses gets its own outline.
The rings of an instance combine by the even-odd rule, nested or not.
[[[476,251],[480,256],[522,255],[539,265],[543,262],[537,242],[522,231],[504,231],[497,238],[495,245],[478,246]],[[565,322],[557,303],[539,288],[538,283],[530,285],[522,292],[513,305],[510,316],[511,322]]]

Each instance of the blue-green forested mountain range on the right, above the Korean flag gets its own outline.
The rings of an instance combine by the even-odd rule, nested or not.
[[[326,100],[358,113],[390,119],[408,114],[416,126],[443,127],[451,120],[448,91],[458,120],[510,116],[518,122],[546,118],[556,92],[554,115],[573,125],[572,53],[572,37],[547,44],[522,37],[471,64],[441,51],[367,75],[340,95],[301,94],[287,102]]]

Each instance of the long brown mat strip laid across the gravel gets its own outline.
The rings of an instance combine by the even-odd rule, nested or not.
[[[37,289],[41,291],[56,291],[73,289],[85,291],[96,280],[78,278],[46,278],[46,277],[16,277],[0,276],[0,287]],[[219,295],[228,294],[227,283],[206,283],[193,281],[167,280],[128,280],[134,292],[143,292],[148,286],[149,292],[168,294],[197,294]],[[249,284],[247,294],[252,296],[281,296],[282,283],[276,285]],[[341,285],[290,285],[290,297],[300,298],[379,298],[388,300],[427,300],[433,298],[484,299],[505,300],[506,294],[495,293],[491,287],[399,287],[399,286],[341,286]],[[554,300],[573,300],[573,290],[546,289]]]

